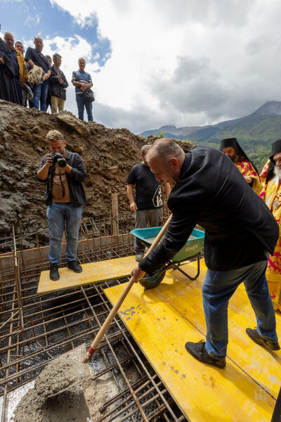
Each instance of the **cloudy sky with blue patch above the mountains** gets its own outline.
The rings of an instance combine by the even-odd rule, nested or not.
[[[135,134],[204,126],[281,101],[280,0],[0,0],[0,37],[60,53],[77,115],[72,71],[86,59],[93,119]]]

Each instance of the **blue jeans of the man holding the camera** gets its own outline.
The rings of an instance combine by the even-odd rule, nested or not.
[[[48,259],[51,264],[60,263],[60,247],[65,223],[67,234],[65,257],[67,262],[76,260],[82,211],[83,206],[73,207],[70,203],[52,203],[48,205],[47,219],[50,231]]]

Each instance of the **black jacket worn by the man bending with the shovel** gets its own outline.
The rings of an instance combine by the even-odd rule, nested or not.
[[[139,264],[148,274],[183,247],[196,223],[205,229],[209,269],[246,267],[274,251],[275,218],[227,155],[214,148],[198,145],[185,154],[168,206],[173,217],[164,240]]]

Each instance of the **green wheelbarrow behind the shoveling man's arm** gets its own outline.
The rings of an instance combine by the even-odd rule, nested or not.
[[[133,229],[131,230],[131,234],[136,236],[143,245],[149,247],[161,229],[162,227]],[[179,250],[164,267],[155,272],[153,276],[150,277],[148,274],[145,274],[145,277],[140,280],[141,286],[144,288],[155,288],[159,286],[161,281],[164,279],[166,270],[169,268],[178,269],[178,271],[181,271],[181,273],[187,276],[190,280],[197,279],[200,274],[200,259],[204,255],[202,252],[202,248],[204,246],[204,236],[204,231],[193,229],[183,248],[181,248],[181,250]],[[192,262],[195,260],[197,260],[197,274],[196,276],[191,277],[180,267],[187,261]]]

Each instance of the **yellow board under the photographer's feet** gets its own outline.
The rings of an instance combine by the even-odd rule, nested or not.
[[[51,293],[66,288],[84,286],[86,284],[99,283],[112,279],[120,279],[129,276],[131,270],[136,265],[136,257],[116,258],[115,260],[105,260],[82,264],[83,271],[74,273],[71,269],[60,268],[60,279],[52,281],[49,278],[49,271],[42,271],[40,274],[37,294]]]

